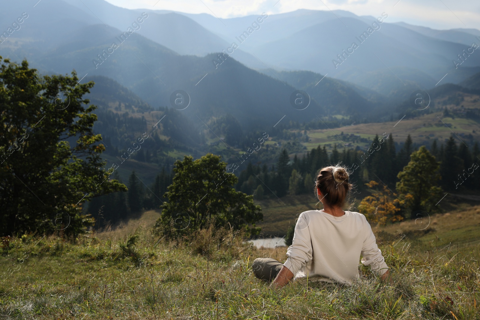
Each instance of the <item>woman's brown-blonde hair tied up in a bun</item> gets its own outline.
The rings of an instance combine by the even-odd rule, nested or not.
[[[348,172],[343,166],[326,166],[315,179],[315,194],[317,189],[323,194],[322,201],[327,206],[342,207],[347,200],[348,191],[352,185],[348,183]]]

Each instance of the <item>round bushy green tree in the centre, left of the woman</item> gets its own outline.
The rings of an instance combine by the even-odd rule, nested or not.
[[[191,156],[177,160],[173,183],[165,193],[168,201],[162,205],[162,216],[155,229],[172,236],[214,223],[216,227],[230,225],[258,234],[260,228],[255,223],[263,219],[261,208],[253,203],[253,196],[233,188],[238,179],[225,171],[226,165],[214,154],[196,160]]]

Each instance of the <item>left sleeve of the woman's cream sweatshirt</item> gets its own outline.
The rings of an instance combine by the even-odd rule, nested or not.
[[[288,247],[288,259],[283,264],[293,275],[296,275],[307,262],[312,260],[312,240],[309,224],[309,215],[301,213],[295,225],[292,245]]]

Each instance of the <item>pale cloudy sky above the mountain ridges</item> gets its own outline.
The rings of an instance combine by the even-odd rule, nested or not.
[[[389,15],[389,22],[403,21],[433,29],[480,30],[480,0],[107,0],[128,9],[208,13],[219,18],[250,14],[292,12],[298,9],[345,10],[357,15]]]

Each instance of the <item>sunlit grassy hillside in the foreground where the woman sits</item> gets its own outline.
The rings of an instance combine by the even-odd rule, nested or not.
[[[59,237],[5,239],[0,318],[480,319],[478,243],[441,248],[435,239],[422,239],[431,232],[399,241],[390,226],[376,232],[393,283],[360,266],[359,282],[351,287],[292,283],[271,290],[250,266],[256,257],[285,260],[285,247],[256,249],[228,230],[165,241],[149,232],[157,214],[76,244]],[[463,216],[473,221],[467,213],[455,214],[432,217],[439,233],[461,229]]]

